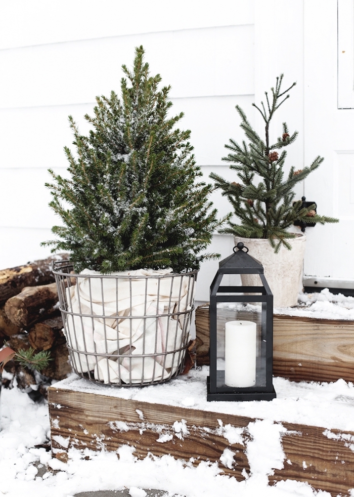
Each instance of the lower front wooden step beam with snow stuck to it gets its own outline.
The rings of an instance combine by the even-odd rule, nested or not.
[[[134,454],[141,459],[152,453],[158,457],[171,454],[193,464],[217,462],[225,474],[240,481],[252,470],[246,455],[252,418],[120,399],[60,385],[50,387],[48,393],[52,450],[60,459],[66,460],[70,447],[116,451],[127,444],[135,447]],[[222,427],[228,424],[240,429],[238,443],[225,437]],[[270,484],[293,479],[333,496],[349,496],[354,487],[354,432],[281,424],[286,429],[281,435],[284,468],[274,471]],[[220,461],[225,449],[235,454],[232,468]]]

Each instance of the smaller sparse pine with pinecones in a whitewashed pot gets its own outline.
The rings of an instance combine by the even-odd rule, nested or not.
[[[227,181],[212,173],[215,186],[223,190],[231,202],[235,219],[229,219],[222,233],[234,235],[235,244],[242,241],[250,254],[264,266],[264,274],[274,294],[276,307],[292,306],[297,303],[302,263],[305,249],[305,235],[289,231],[294,223],[335,223],[338,220],[319,216],[315,204],[306,205],[302,200],[294,201],[294,186],[315,171],[323,157],[316,157],[311,165],[295,170],[291,167],[285,175],[285,147],[291,145],[298,135],[289,134],[283,122],[282,135],[272,143],[270,122],[276,110],[289,98],[293,83],[282,90],[283,74],[277,77],[271,97],[265,92],[265,104],[252,104],[261,114],[265,124],[265,140],[261,139],[247,120],[244,111],[236,105],[241,117],[240,127],[249,143],[239,145],[235,140],[225,147],[230,153],[223,157],[230,169],[237,173],[236,181]],[[281,152],[278,152],[281,150]],[[257,284],[255,276],[243,276],[244,284]]]

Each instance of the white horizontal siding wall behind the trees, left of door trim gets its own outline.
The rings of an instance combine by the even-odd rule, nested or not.
[[[254,98],[253,19],[252,0],[0,2],[0,268],[49,254],[39,243],[58,220],[44,183],[48,168],[65,174],[67,116],[87,129],[83,115],[97,95],[119,93],[121,64],[131,66],[136,46],[172,86],[173,111],[185,113],[181,126],[192,130],[206,179],[227,176],[224,144],[241,138],[235,105],[250,108]],[[213,200],[220,215],[229,212],[219,193]],[[210,247],[223,256],[231,249],[220,235]],[[204,266],[199,300],[208,299],[217,262]]]

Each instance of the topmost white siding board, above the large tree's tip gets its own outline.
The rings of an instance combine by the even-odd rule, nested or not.
[[[0,49],[253,19],[253,0],[2,0]]]

